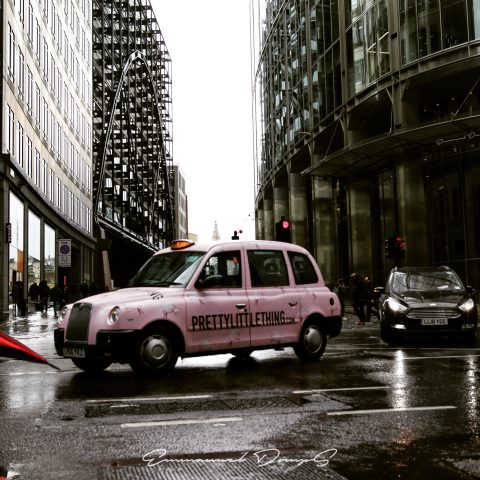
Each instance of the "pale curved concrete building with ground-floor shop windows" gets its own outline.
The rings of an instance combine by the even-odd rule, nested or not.
[[[90,281],[92,5],[2,3],[0,312],[22,282]],[[61,248],[59,248],[61,246]],[[11,299],[10,299],[11,302]]]

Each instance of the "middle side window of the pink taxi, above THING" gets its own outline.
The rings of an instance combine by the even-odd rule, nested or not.
[[[252,287],[288,285],[285,258],[279,250],[249,250],[248,266]]]

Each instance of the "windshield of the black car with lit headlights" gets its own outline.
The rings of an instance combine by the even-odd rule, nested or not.
[[[391,290],[404,292],[432,292],[464,290],[458,276],[452,271],[395,272]]]

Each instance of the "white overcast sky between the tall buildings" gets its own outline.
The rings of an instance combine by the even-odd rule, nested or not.
[[[172,58],[173,160],[189,231],[254,238],[249,0],[151,0]]]

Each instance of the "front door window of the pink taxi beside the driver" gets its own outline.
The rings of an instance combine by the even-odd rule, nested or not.
[[[211,288],[239,288],[242,286],[242,264],[239,251],[220,252],[212,255],[200,275],[201,280],[216,276]]]

